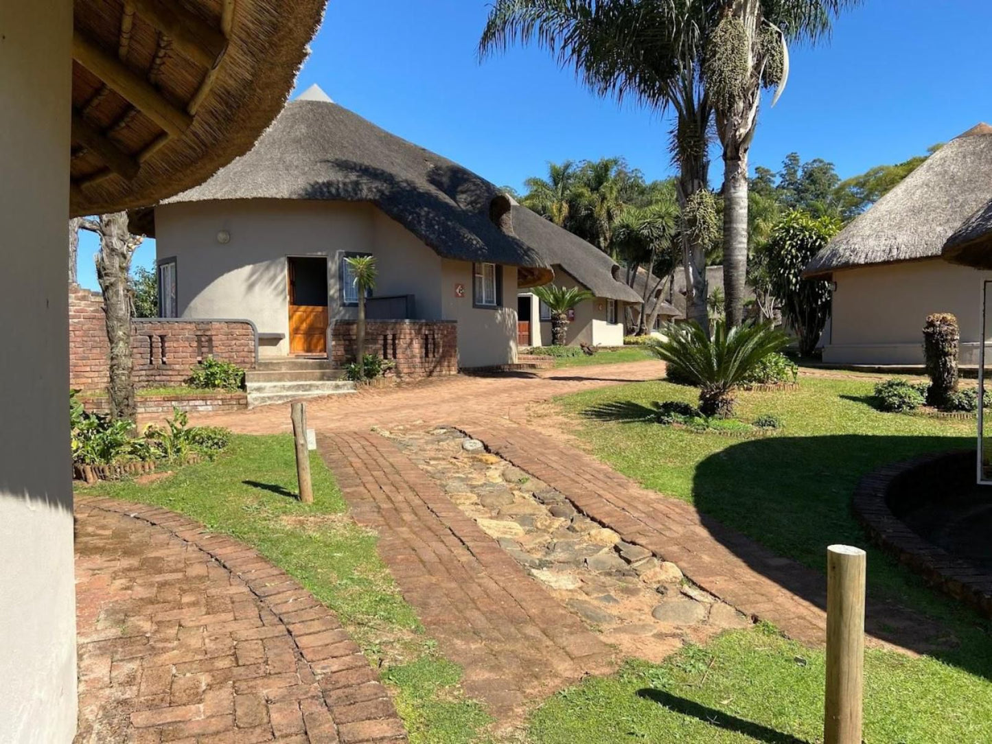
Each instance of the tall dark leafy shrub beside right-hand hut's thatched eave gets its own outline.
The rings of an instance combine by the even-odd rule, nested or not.
[[[830,315],[827,282],[804,279],[806,265],[837,232],[840,225],[832,217],[814,219],[806,212],[789,212],[772,231],[764,250],[772,293],[782,301],[782,314],[799,334],[800,352],[809,356]]]

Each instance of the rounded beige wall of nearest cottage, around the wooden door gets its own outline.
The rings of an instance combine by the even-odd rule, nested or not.
[[[262,351],[289,353],[287,256],[325,256],[328,317],[354,317],[341,304],[338,266],[346,253],[377,257],[375,295],[413,294],[417,315],[440,317],[440,258],[413,233],[367,203],[267,199],[167,204],[155,214],[159,260],[176,258],[185,317],[247,317],[260,333],[283,333]],[[226,230],[230,241],[217,242]]]

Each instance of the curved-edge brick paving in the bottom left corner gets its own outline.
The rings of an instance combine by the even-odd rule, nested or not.
[[[75,514],[77,742],[406,741],[335,615],[255,551],[164,509]]]

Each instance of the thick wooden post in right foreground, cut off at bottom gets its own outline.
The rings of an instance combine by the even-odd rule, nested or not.
[[[826,549],[824,744],[861,744],[865,562],[860,548]]]

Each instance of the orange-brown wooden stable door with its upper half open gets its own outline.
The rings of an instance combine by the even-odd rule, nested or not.
[[[290,353],[327,353],[327,261],[287,259],[290,289]]]

